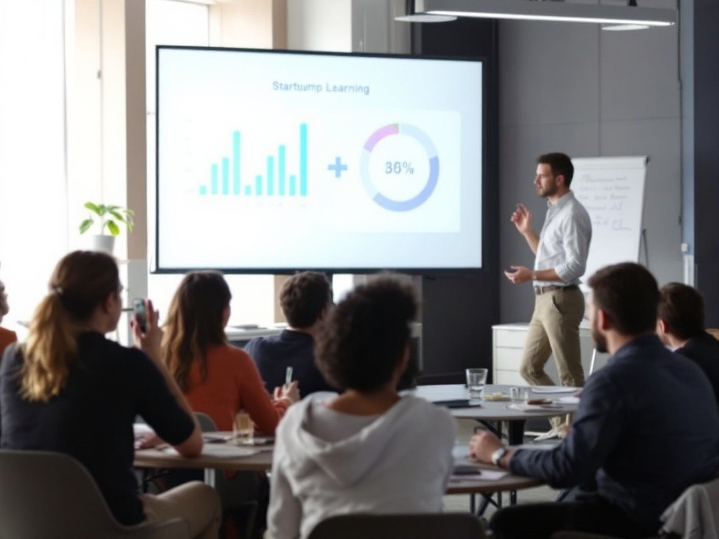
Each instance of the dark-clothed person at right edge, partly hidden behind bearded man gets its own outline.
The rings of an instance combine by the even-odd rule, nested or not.
[[[702,368],[719,405],[719,341],[705,331],[704,300],[695,288],[670,282],[659,289],[657,333],[669,348]]]

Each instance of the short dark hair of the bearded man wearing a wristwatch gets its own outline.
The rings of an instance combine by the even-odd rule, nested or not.
[[[653,332],[659,285],[654,275],[634,262],[613,264],[589,278],[592,301],[624,335]]]

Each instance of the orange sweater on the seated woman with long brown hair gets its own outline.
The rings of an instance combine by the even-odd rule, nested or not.
[[[265,390],[260,372],[244,350],[234,346],[213,346],[207,352],[207,379],[202,382],[200,362],[190,370],[190,389],[185,393],[196,412],[206,413],[218,430],[232,430],[238,410],[247,410],[257,430],[274,435],[289,402],[273,402]]]

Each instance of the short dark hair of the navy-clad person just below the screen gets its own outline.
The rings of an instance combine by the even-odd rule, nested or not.
[[[312,326],[331,300],[332,287],[321,272],[297,273],[280,290],[280,307],[293,328]]]

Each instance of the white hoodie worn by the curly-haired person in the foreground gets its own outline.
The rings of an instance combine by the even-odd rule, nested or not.
[[[306,538],[347,513],[440,512],[456,423],[408,395],[383,415],[356,416],[303,400],[280,421],[267,537]]]

